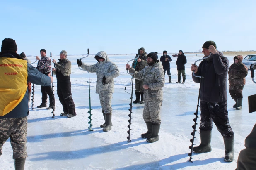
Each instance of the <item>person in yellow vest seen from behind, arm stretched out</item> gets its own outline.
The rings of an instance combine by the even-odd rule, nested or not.
[[[0,156],[2,146],[11,138],[15,170],[24,170],[27,157],[27,82],[51,86],[53,78],[40,73],[17,54],[15,40],[5,38],[0,52]]]

